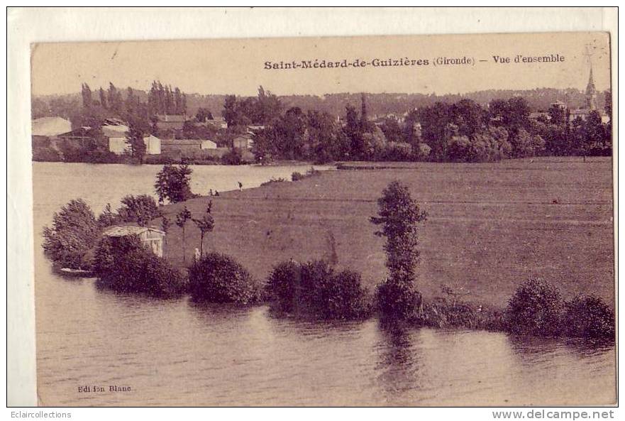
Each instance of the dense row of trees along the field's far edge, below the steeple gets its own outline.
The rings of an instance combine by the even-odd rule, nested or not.
[[[280,107],[277,107],[280,109]],[[551,119],[530,119],[526,99],[495,99],[487,107],[471,99],[436,102],[405,118],[372,121],[367,99],[360,114],[345,107],[338,121],[328,113],[292,107],[265,120],[254,137],[257,160],[433,160],[493,161],[538,155],[609,155],[611,124],[598,111],[586,119],[570,117],[553,106]]]

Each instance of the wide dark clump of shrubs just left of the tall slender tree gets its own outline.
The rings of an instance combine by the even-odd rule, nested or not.
[[[316,319],[360,319],[371,298],[360,273],[335,270],[326,261],[287,261],[272,270],[267,295],[275,310]]]

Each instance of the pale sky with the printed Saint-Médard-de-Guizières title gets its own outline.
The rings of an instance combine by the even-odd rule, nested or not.
[[[187,94],[278,95],[339,92],[466,93],[540,87],[585,89],[592,53],[597,90],[609,88],[607,33],[409,35],[234,40],[164,40],[115,43],[39,43],[31,48],[31,93],[79,92],[153,80]],[[516,55],[560,55],[564,61],[515,63]],[[510,58],[497,63],[494,56]],[[438,58],[469,65],[433,65]],[[267,70],[265,62],[428,60],[428,65]],[[480,61],[485,60],[485,61]]]

